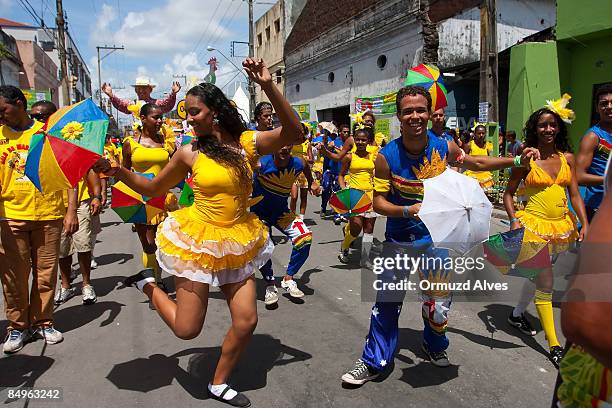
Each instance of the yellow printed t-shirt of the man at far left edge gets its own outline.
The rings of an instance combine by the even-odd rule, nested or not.
[[[32,135],[43,124],[24,131],[0,126],[0,219],[50,221],[64,218],[61,191],[43,194],[24,174]]]

